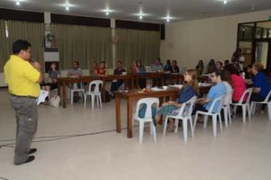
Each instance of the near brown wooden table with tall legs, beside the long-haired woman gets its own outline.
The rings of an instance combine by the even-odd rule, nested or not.
[[[126,99],[126,110],[127,110],[127,137],[133,137],[133,127],[132,127],[132,117],[133,117],[133,104],[135,100],[143,98],[163,98],[172,97],[173,100],[177,99],[179,89],[168,88],[167,90],[153,91],[140,93],[138,90],[125,90],[117,91],[115,93],[116,97],[116,126],[117,133],[121,133],[121,110],[120,110],[120,100]]]

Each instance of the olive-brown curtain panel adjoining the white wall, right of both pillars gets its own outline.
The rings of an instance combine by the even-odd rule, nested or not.
[[[116,29],[117,61],[131,66],[133,60],[141,60],[150,65],[154,58],[160,57],[160,33],[130,29]]]

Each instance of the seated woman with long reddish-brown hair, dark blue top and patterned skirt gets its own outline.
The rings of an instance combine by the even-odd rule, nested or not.
[[[157,115],[155,117],[156,122],[158,122],[163,115],[177,115],[182,107],[182,103],[197,95],[197,92],[199,90],[197,82],[197,71],[187,70],[184,73],[184,81],[186,81],[186,84],[180,90],[177,101],[167,101],[162,105],[160,109],[158,109]],[[184,112],[184,116],[186,115],[185,113],[187,112]],[[173,119],[169,119],[169,127],[167,128],[167,130],[173,132]]]

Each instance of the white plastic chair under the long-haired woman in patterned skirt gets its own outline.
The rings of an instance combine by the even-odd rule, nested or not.
[[[187,133],[187,121],[189,120],[190,127],[191,127],[191,132],[192,132],[192,137],[194,137],[194,129],[193,129],[193,125],[192,125],[192,110],[193,110],[195,100],[196,100],[196,96],[192,97],[191,99],[189,99],[188,101],[183,103],[182,108],[179,110],[178,115],[176,115],[176,116],[168,115],[168,116],[165,117],[165,120],[164,120],[164,136],[165,136],[165,132],[166,132],[168,119],[169,118],[174,118],[175,119],[175,133],[178,132],[179,119],[182,119],[183,139],[186,142],[187,141],[187,134],[188,134]],[[187,112],[187,115],[182,116],[183,110],[187,105],[190,105],[190,107],[188,109],[188,112]]]

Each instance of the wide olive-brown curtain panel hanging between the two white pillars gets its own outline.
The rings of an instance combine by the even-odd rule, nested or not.
[[[81,69],[92,68],[93,62],[107,63],[112,67],[111,29],[104,27],[51,24],[55,46],[60,50],[61,69],[70,69],[79,61]]]

